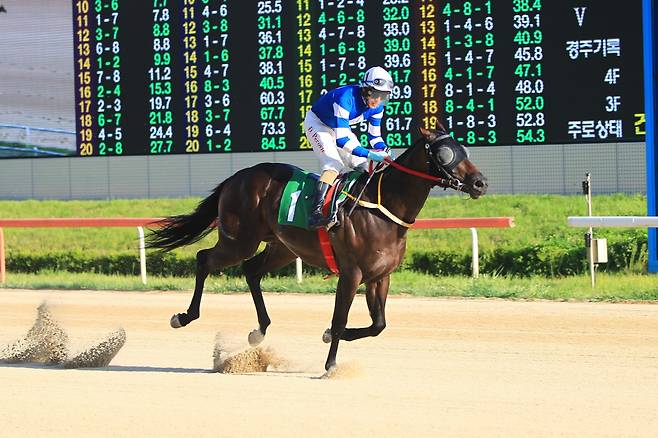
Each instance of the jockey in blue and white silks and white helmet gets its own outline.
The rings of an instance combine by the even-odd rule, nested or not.
[[[393,79],[386,70],[372,67],[359,85],[329,91],[306,113],[304,131],[322,165],[309,217],[311,229],[330,222],[330,218],[322,215],[322,205],[339,173],[349,169],[365,171],[368,159],[381,162],[389,156],[381,137],[381,123],[393,86]],[[368,121],[370,148],[360,145],[350,127],[363,120]]]

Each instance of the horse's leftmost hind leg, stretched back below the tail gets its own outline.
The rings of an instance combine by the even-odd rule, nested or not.
[[[192,301],[186,313],[178,313],[171,317],[173,328],[184,327],[199,317],[201,295],[208,275],[211,272],[235,266],[242,260],[251,257],[258,249],[260,241],[240,241],[239,244],[237,242],[237,240],[221,238],[214,247],[202,249],[197,253],[194,295],[192,295]]]

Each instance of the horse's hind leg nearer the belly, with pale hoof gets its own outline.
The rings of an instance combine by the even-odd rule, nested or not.
[[[279,242],[268,243],[262,252],[242,264],[242,270],[247,279],[251,297],[254,300],[254,306],[256,306],[256,315],[258,316],[258,328],[249,333],[249,344],[252,347],[263,341],[267,327],[271,323],[263,300],[260,281],[265,274],[283,268],[295,260],[295,257],[295,254],[285,245]]]

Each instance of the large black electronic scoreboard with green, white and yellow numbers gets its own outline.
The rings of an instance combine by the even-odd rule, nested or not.
[[[644,141],[639,1],[72,5],[80,156],[310,149],[306,112],[375,65],[391,147],[439,123],[474,146]]]

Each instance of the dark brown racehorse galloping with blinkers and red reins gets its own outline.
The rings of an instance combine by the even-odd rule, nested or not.
[[[349,203],[338,211],[338,226],[328,232],[338,267],[338,285],[331,329],[323,335],[331,342],[325,369],[336,364],[338,342],[377,336],[384,330],[384,308],[390,274],[404,256],[407,229],[425,204],[433,186],[452,188],[476,199],[487,191],[487,180],[469,160],[468,150],[442,126],[421,129],[421,138],[366,185],[363,201],[377,209],[355,208]],[[169,251],[203,238],[218,229],[217,244],[197,253],[196,284],[187,312],[171,318],[179,328],[199,317],[201,295],[207,276],[242,263],[258,316],[258,328],[249,343],[258,345],[271,321],[265,308],[261,279],[267,273],[292,263],[296,257],[311,265],[327,267],[316,231],[279,225],[278,209],[284,187],[294,166],[261,163],[242,169],[219,184],[195,211],[166,218],[149,235],[147,247]],[[355,192],[366,184],[364,173]],[[375,182],[373,180],[373,183]],[[376,204],[375,204],[376,202]],[[261,242],[263,251],[256,254]],[[347,316],[357,288],[365,285],[372,324],[346,328]]]

